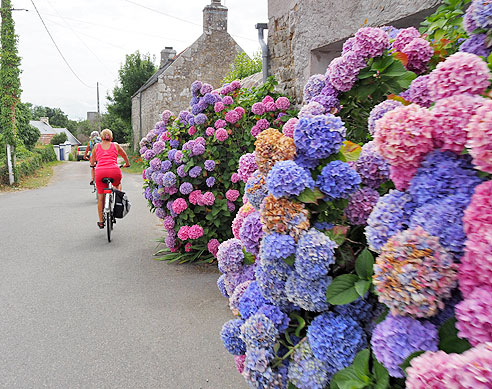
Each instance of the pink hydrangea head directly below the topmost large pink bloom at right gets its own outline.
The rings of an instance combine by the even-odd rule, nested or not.
[[[438,100],[431,111],[434,145],[442,150],[461,153],[467,141],[466,126],[484,101],[485,99],[480,96],[468,94],[454,95]],[[482,134],[483,132],[480,131],[480,136]],[[492,140],[492,137],[490,139]]]

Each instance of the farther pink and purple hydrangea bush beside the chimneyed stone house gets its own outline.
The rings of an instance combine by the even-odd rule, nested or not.
[[[253,151],[261,131],[281,128],[293,112],[286,97],[272,92],[274,85],[270,79],[246,90],[233,81],[214,91],[195,81],[191,109],[178,115],[164,111],[141,140],[145,198],[167,232],[162,239],[167,248],[158,253],[165,254],[162,259],[211,261],[219,243],[232,238],[224,226],[241,207],[244,183],[257,169],[253,154],[240,159],[239,172],[237,160]],[[250,218],[245,227],[256,233],[247,244],[252,251],[261,237],[258,224],[258,217]]]

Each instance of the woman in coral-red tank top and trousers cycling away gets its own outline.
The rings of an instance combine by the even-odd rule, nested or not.
[[[129,167],[130,161],[128,160],[128,156],[125,153],[125,150],[121,148],[121,146],[112,142],[113,140],[113,132],[108,130],[107,128],[101,131],[101,139],[102,142],[98,143],[94,147],[94,151],[92,152],[90,163],[91,167],[95,166],[97,161],[97,166],[95,166],[96,176],[96,188],[97,188],[97,212],[99,214],[99,221],[97,225],[99,228],[104,228],[104,220],[102,215],[103,210],[103,189],[105,184],[102,182],[102,179],[105,177],[113,179],[113,186],[121,190],[121,169],[118,166],[118,155],[121,155],[125,161],[125,165],[123,167]]]

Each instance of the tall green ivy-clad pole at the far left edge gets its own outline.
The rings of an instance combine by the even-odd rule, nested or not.
[[[21,89],[20,57],[17,55],[17,35],[15,35],[10,0],[1,0],[0,15],[2,19],[0,26],[0,131],[2,131],[4,142],[14,145],[17,135],[15,106],[19,103]]]

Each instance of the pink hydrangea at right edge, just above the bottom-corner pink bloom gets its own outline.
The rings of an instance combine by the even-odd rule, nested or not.
[[[492,341],[492,285],[476,288],[455,308],[458,336],[473,346]]]

